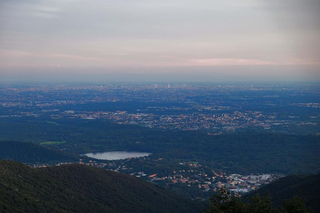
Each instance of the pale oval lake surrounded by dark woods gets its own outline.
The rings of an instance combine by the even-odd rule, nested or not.
[[[117,152],[89,152],[86,154],[82,154],[88,157],[94,157],[97,159],[103,160],[119,160],[125,159],[127,157],[142,157],[148,156],[152,153],[149,152],[127,152],[127,151],[117,151]]]

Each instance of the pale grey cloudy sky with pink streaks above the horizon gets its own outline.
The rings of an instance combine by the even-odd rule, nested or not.
[[[0,81],[320,80],[319,0],[2,0]]]

